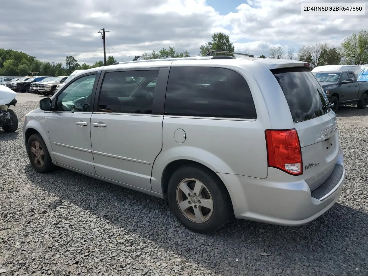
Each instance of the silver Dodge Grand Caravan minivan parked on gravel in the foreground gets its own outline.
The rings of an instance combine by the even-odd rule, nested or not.
[[[230,56],[83,71],[24,117],[35,171],[60,166],[169,202],[188,229],[230,216],[297,226],[345,178],[339,130],[311,64]]]

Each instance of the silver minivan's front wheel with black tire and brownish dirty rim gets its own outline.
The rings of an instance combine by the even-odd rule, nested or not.
[[[32,148],[39,148],[42,150],[42,154],[40,151],[38,151],[38,153],[33,152]],[[55,169],[46,144],[38,133],[32,134],[31,137],[29,137],[27,142],[27,153],[29,162],[31,162],[33,169],[38,173],[49,173]],[[43,157],[43,163],[40,162],[40,159],[37,159],[36,156],[39,158]]]

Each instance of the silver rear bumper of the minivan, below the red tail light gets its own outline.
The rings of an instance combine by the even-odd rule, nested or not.
[[[310,191],[304,180],[293,181],[275,168],[268,168],[266,179],[235,174],[218,174],[226,184],[238,219],[298,226],[325,213],[339,199],[345,180],[343,153],[331,176],[319,188]]]

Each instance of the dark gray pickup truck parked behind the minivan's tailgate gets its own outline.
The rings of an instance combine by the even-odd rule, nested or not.
[[[339,106],[356,104],[365,109],[368,105],[368,81],[357,82],[353,71],[324,71],[313,72],[321,83],[333,111]]]

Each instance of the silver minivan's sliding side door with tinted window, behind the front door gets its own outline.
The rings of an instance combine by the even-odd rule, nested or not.
[[[98,176],[152,190],[152,165],[162,149],[163,115],[152,114],[158,74],[158,69],[106,72],[90,126]],[[127,79],[140,79],[130,95]]]

